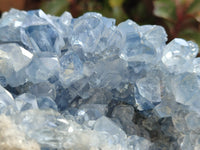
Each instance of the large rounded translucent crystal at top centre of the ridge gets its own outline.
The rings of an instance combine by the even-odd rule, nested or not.
[[[101,14],[86,13],[74,20],[73,38],[71,44],[74,49],[82,48],[85,52],[93,52],[103,31]]]

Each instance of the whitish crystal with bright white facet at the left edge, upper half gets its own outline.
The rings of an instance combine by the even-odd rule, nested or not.
[[[16,43],[0,44],[0,75],[12,86],[26,80],[24,69],[31,63],[33,54]]]

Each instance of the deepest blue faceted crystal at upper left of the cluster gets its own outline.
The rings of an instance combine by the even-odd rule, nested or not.
[[[28,47],[35,53],[46,53],[46,55],[61,55],[60,49],[64,41],[51,25],[32,25],[24,29],[22,34],[28,42]]]

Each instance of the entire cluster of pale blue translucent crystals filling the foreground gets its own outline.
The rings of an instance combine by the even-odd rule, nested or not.
[[[199,150],[198,46],[166,41],[99,13],[4,13],[0,149]]]

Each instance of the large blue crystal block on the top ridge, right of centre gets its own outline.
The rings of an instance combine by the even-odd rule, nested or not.
[[[121,55],[128,61],[155,60],[154,58],[160,53],[160,48],[167,40],[163,28],[157,26],[139,27],[135,22],[127,20],[120,23],[118,28],[124,34],[125,40]],[[157,36],[158,33],[159,36]],[[159,42],[155,43],[155,41]]]

